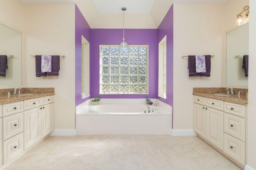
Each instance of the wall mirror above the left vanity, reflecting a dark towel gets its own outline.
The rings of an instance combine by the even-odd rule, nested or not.
[[[0,24],[0,55],[9,55],[6,76],[0,76],[0,86],[21,86],[22,34],[2,24]]]

